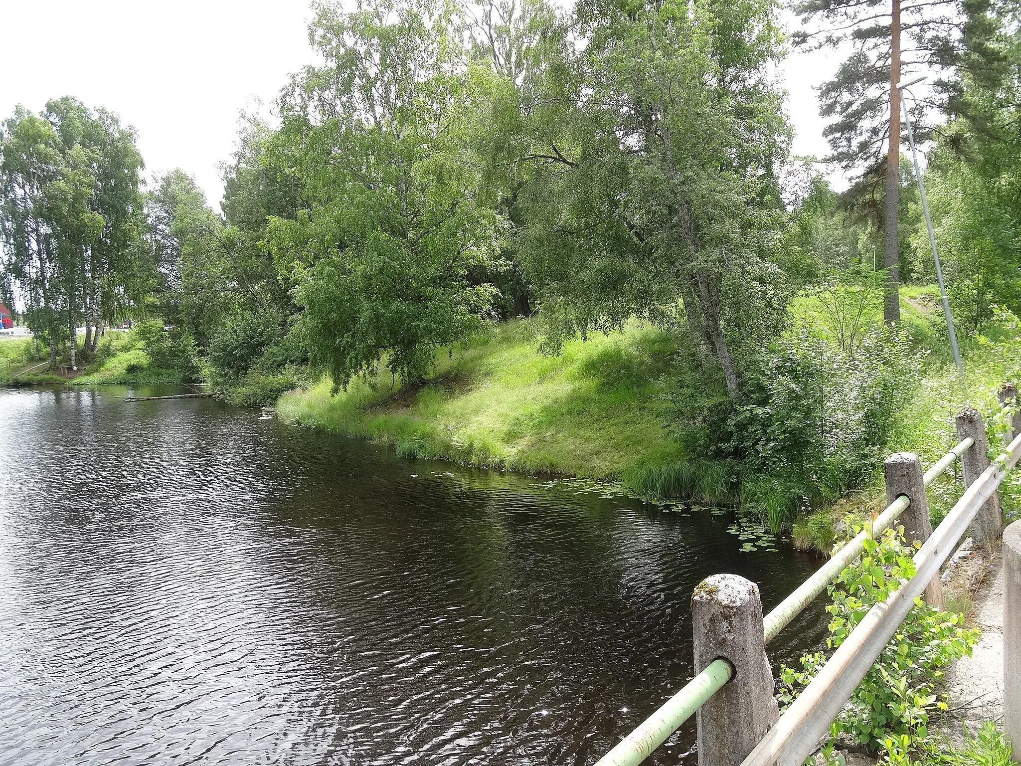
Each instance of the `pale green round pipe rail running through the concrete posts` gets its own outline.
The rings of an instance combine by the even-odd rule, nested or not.
[[[940,458],[924,474],[928,487],[962,453],[975,443],[968,437]],[[872,522],[871,529],[864,529],[850,542],[837,550],[833,557],[812,577],[801,583],[790,595],[763,618],[763,640],[768,644],[790,621],[800,614],[865,549],[865,540],[881,534],[893,525],[907,510],[908,497],[901,495],[887,506]],[[715,660],[688,681],[680,691],[670,698],[652,715],[624,737],[595,766],[637,766],[688,720],[713,695],[719,691],[733,677],[734,669],[726,660]]]

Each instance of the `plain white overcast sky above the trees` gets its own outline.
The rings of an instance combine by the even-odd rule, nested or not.
[[[309,16],[307,0],[0,0],[0,119],[63,95],[105,106],[138,131],[147,176],[181,167],[216,205],[239,110],[257,99],[269,116],[313,60]],[[796,154],[827,152],[814,89],[836,63],[783,64]]]

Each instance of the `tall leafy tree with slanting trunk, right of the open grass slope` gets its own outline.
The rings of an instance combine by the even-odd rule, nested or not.
[[[531,169],[520,247],[553,345],[632,316],[683,319],[738,393],[734,348],[783,301],[770,257],[788,139],[769,76],[775,12],[769,0],[578,4],[576,43],[505,141]]]

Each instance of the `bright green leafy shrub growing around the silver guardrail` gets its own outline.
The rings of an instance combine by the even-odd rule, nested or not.
[[[848,525],[850,526],[850,525]],[[860,528],[852,528],[858,534]],[[868,539],[859,561],[840,573],[829,587],[832,603],[826,644],[836,649],[850,635],[873,606],[885,601],[902,581],[915,575],[914,548],[900,538],[904,529],[886,530],[879,540]],[[921,599],[901,624],[878,661],[859,684],[830,729],[872,750],[898,747],[908,741],[922,743],[928,736],[929,713],[945,710],[934,688],[943,668],[971,655],[978,631],[963,627],[960,615],[940,612]],[[781,702],[789,704],[795,691],[808,685],[825,663],[822,653],[801,658],[801,670],[783,666]]]

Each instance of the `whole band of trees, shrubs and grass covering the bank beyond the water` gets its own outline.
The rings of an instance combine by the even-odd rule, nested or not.
[[[772,0],[315,2],[308,65],[273,124],[241,115],[218,204],[184,170],[145,178],[106,108],[18,105],[0,303],[34,340],[0,343],[0,374],[204,381],[406,457],[736,506],[829,553],[885,505],[884,459],[931,465],[965,405],[999,449],[996,393],[1021,382],[1015,8],[894,4],[885,27],[873,5],[795,2],[784,30]],[[897,71],[901,36],[931,55]],[[777,67],[838,41],[832,153],[792,155]],[[889,118],[910,78],[927,205]],[[933,522],[960,493],[955,468]],[[938,750],[877,710],[873,734]]]

